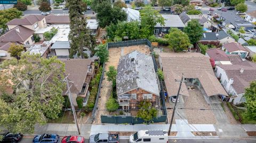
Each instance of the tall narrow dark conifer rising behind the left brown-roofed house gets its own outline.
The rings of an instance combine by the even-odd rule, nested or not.
[[[70,19],[70,32],[68,39],[70,42],[70,54],[69,57],[73,58],[77,55],[81,58],[86,58],[88,55],[84,53],[84,48],[89,48],[91,52],[94,52],[95,37],[91,36],[90,31],[86,28],[86,19],[83,12],[86,11],[87,6],[82,0],[68,0],[69,3],[69,19]]]

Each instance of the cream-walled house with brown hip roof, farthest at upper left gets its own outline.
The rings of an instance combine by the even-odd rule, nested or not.
[[[22,19],[13,19],[6,24],[9,30],[16,28],[17,26],[23,26],[31,30],[37,30],[38,28],[46,27],[46,20],[43,15],[27,15]]]

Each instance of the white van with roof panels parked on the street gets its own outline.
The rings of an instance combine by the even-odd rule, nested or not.
[[[168,133],[165,130],[140,130],[130,136],[129,142],[168,143]]]

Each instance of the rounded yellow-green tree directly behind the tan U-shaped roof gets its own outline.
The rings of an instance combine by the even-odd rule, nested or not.
[[[171,28],[169,33],[169,47],[173,48],[174,52],[182,52],[188,50],[188,46],[190,46],[190,43],[186,33],[178,28]]]

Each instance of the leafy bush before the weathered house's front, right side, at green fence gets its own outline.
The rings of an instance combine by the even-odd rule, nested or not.
[[[151,103],[149,101],[143,101],[139,105],[139,112],[137,113],[137,117],[143,119],[146,123],[153,122],[153,119],[157,115],[157,110],[154,107],[151,107]]]

